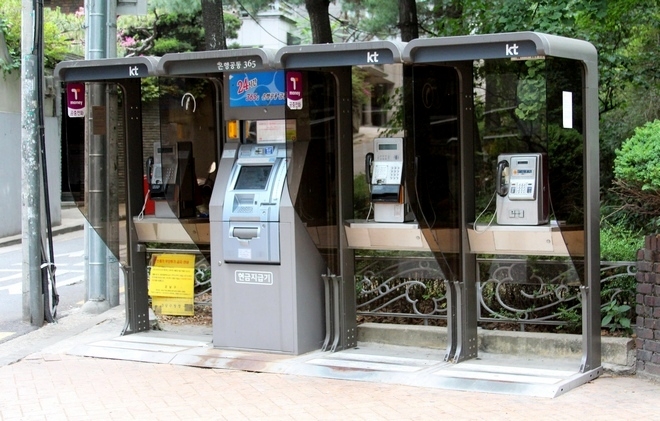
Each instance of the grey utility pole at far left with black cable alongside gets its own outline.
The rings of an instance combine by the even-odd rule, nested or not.
[[[23,319],[33,326],[44,323],[41,287],[41,191],[37,95],[37,56],[34,51],[35,10],[32,0],[22,2],[21,150]]]

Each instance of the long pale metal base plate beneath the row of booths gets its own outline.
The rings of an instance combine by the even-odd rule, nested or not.
[[[148,331],[80,345],[74,355],[523,396],[556,397],[602,374],[579,361],[481,354],[452,364],[428,348],[360,343],[300,356],[216,349],[212,335]]]

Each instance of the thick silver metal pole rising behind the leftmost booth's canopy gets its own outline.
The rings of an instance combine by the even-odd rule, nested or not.
[[[86,58],[106,58],[106,1],[85,1],[87,13]],[[94,120],[105,118],[105,89],[95,84],[90,89],[92,112],[87,127],[88,142],[88,295],[82,309],[88,313],[102,313],[110,308],[107,300],[106,237],[106,130],[98,132]],[[99,107],[99,108],[97,108]]]

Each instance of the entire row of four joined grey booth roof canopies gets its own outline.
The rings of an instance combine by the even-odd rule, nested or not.
[[[367,41],[286,46],[279,50],[244,48],[64,61],[55,77],[64,82],[101,81],[149,76],[202,75],[274,68],[303,69],[391,63],[442,63],[495,58],[562,57],[596,63],[586,41],[537,32],[422,38],[408,43]]]

